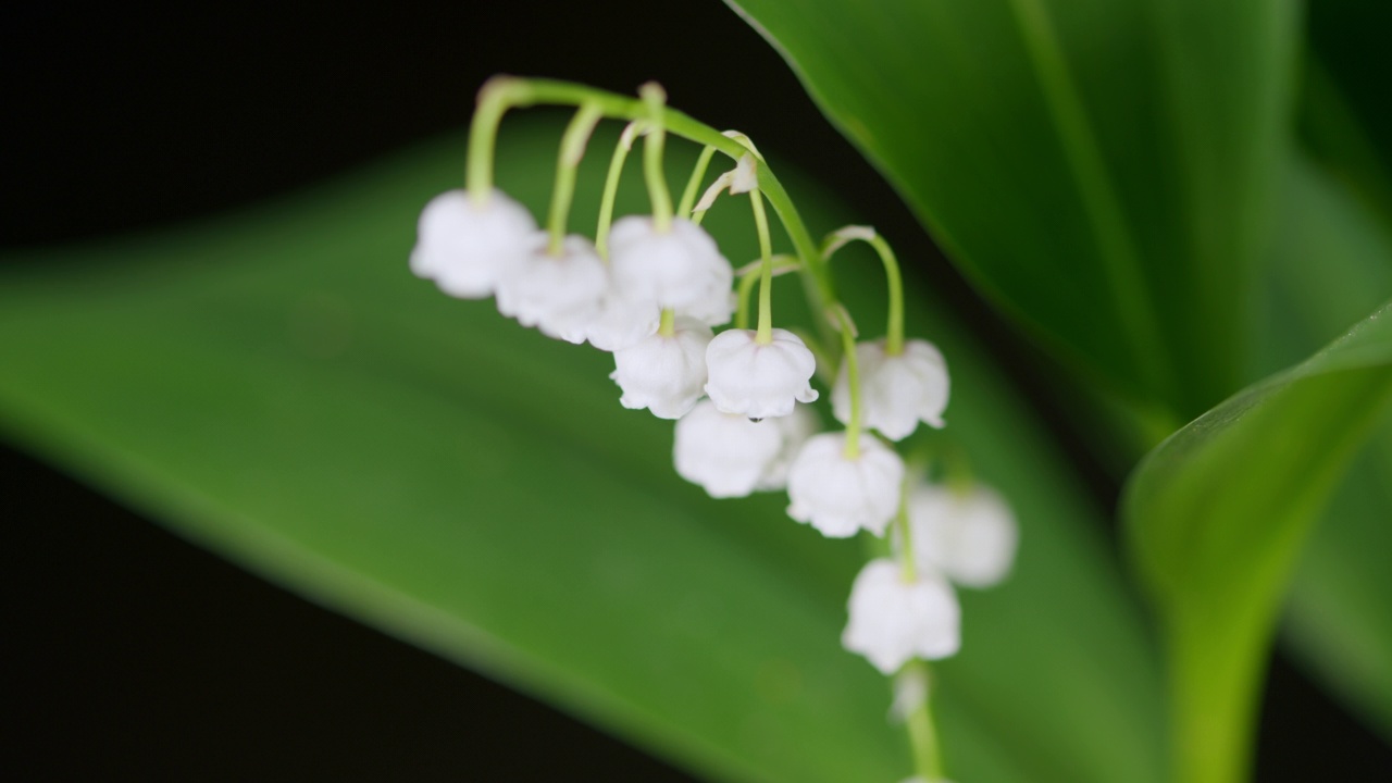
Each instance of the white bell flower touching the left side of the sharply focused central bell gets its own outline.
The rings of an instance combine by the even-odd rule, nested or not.
[[[706,346],[710,327],[693,318],[678,318],[671,337],[661,333],[614,351],[610,378],[624,390],[625,408],[647,408],[653,415],[675,419],[700,398],[706,383]]]

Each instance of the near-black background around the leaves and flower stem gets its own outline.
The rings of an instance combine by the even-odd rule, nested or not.
[[[1034,352],[717,0],[6,8],[6,249],[295,189],[461,127],[494,72],[618,92],[656,78],[674,106],[817,173],[894,237],[1115,502],[1115,479],[1059,424]],[[7,780],[688,780],[4,446],[0,520]],[[1279,658],[1263,722],[1264,783],[1392,769],[1385,745]]]

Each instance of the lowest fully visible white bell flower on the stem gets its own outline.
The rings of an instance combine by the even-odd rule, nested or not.
[[[919,570],[905,581],[894,560],[871,560],[851,587],[849,609],[841,645],[885,676],[913,658],[948,658],[962,646],[962,609],[952,587],[933,571]]]

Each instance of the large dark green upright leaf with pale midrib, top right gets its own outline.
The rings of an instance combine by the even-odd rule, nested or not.
[[[1164,432],[1240,385],[1296,3],[731,4],[1061,357]]]

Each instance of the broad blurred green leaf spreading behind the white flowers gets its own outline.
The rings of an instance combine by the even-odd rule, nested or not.
[[[505,128],[500,183],[536,210],[558,125]],[[781,496],[706,497],[672,472],[671,424],[618,405],[607,355],[406,272],[416,213],[462,156],[451,139],[249,213],[11,259],[0,429],[269,580],[711,779],[905,777],[889,688],[838,642],[862,548],[791,522]],[[644,206],[631,174],[621,212]],[[709,224],[736,263],[754,255],[748,209]],[[857,318],[883,312],[874,265],[838,277]],[[963,596],[966,651],[938,669],[954,773],[1157,780],[1157,665],[1098,510],[965,332],[910,309],[954,365],[952,431],[1023,525],[1016,574]]]

